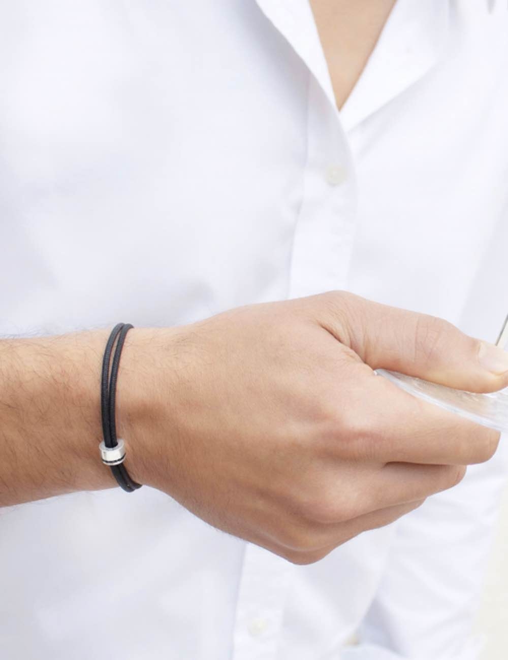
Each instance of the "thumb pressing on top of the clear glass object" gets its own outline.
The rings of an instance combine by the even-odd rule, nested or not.
[[[508,352],[465,335],[444,319],[342,291],[323,296],[326,322],[321,325],[373,369],[471,392],[508,386]]]

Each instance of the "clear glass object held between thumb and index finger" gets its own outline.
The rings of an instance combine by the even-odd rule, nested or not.
[[[508,316],[496,346],[505,348],[508,343]],[[437,385],[421,378],[406,376],[385,369],[377,369],[376,373],[395,383],[400,389],[413,394],[419,399],[434,403],[452,413],[466,417],[473,422],[495,428],[497,431],[508,432],[508,387],[490,394],[466,392],[445,385]]]

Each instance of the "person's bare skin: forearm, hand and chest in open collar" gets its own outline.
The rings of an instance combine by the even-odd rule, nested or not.
[[[312,0],[339,108],[392,5]],[[0,506],[116,486],[98,455],[109,332],[0,341]],[[487,392],[508,385],[502,358],[441,319],[345,292],[135,328],[118,436],[133,479],[308,564],[454,486],[499,442],[373,369]]]

